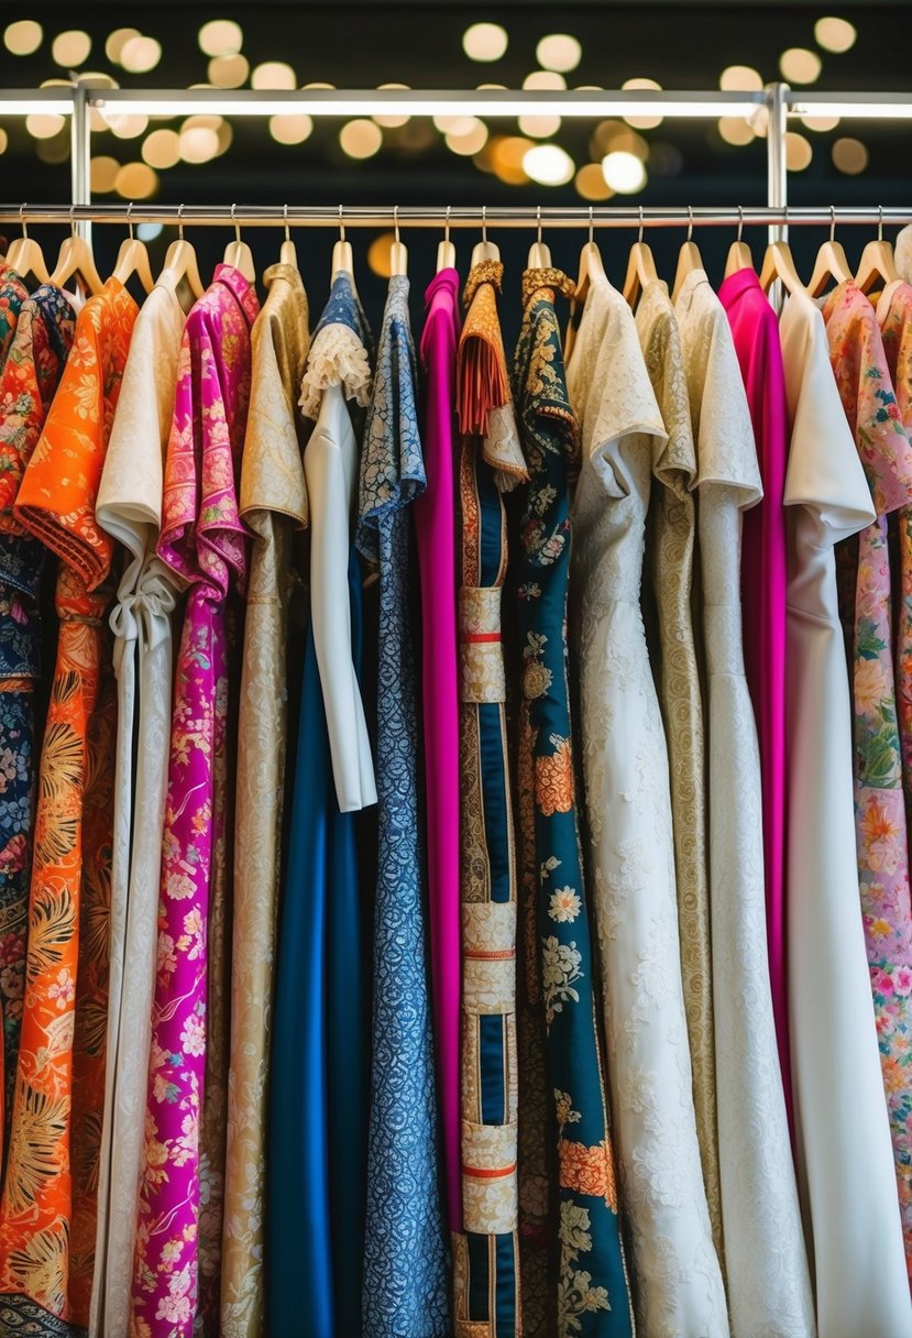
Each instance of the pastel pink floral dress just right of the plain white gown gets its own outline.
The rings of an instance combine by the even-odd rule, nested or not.
[[[850,646],[854,818],[868,966],[880,1062],[912,1256],[912,909],[903,759],[896,717],[888,516],[912,500],[912,440],[871,301],[840,284],[824,304],[830,363],[877,519],[837,551],[840,615]]]

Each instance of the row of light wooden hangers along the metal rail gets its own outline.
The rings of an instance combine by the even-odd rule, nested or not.
[[[103,286],[103,280],[98,273],[95,265],[95,257],[92,254],[92,248],[90,242],[82,237],[71,219],[71,233],[66,238],[60,248],[58,256],[58,264],[52,272],[44,261],[44,254],[39,244],[28,235],[28,229],[24,219],[24,209],[20,210],[21,218],[21,237],[17,237],[7,253],[7,262],[23,277],[32,274],[41,284],[55,284],[58,288],[63,288],[70,280],[78,278],[90,293],[96,293]],[[166,286],[175,290],[182,280],[186,280],[194,297],[201,297],[203,293],[203,282],[199,276],[199,265],[197,262],[197,253],[193,245],[183,235],[183,222],[182,211],[183,205],[178,207],[178,240],[171,242],[168,250],[164,256],[164,266],[158,280],[152,278],[152,270],[148,260],[148,250],[146,244],[139,241],[134,235],[132,222],[130,219],[130,211],[132,205],[127,207],[127,226],[130,235],[122,244],[118,253],[118,258],[114,268],[114,277],[122,284],[126,284],[128,278],[134,274],[142,284],[143,289],[148,293],[155,286],[155,282],[164,284]],[[332,274],[333,278],[338,273],[346,273],[354,280],[354,257],[352,253],[352,245],[345,237],[345,223],[342,222],[342,206],[340,205],[340,237],[333,246],[332,258]],[[234,219],[235,206],[231,206],[231,218]],[[590,234],[588,241],[582,249],[579,261],[579,276],[576,280],[576,302],[583,302],[588,292],[591,276],[594,273],[600,273],[606,277],[604,265],[602,261],[602,253],[599,252],[592,226],[592,211],[590,210]],[[653,250],[647,242],[643,241],[643,217],[641,210],[641,225],[639,237],[630,249],[630,258],[627,262],[627,273],[623,281],[623,296],[630,302],[631,306],[637,304],[641,289],[643,289],[649,282],[658,280],[658,272],[655,269],[655,261],[653,258]],[[408,249],[400,238],[398,230],[398,209],[393,210],[393,235],[394,240],[390,245],[390,274],[407,274],[408,273]],[[671,297],[675,300],[681,290],[681,286],[693,270],[703,269],[703,262],[699,254],[699,249],[693,240],[693,217],[687,227],[687,240],[682,245],[678,253],[678,266],[674,277],[674,285],[671,289]],[[753,256],[750,248],[742,241],[744,222],[738,226],[738,237],[729,249],[725,276],[735,273],[738,269],[753,269]],[[487,233],[487,219],[484,217],[484,209],[481,210],[481,241],[475,246],[472,252],[472,266],[480,264],[481,261],[499,261],[500,249],[495,242],[488,241]],[[279,261],[286,265],[297,268],[297,250],[294,242],[292,241],[289,221],[288,221],[288,205],[285,206],[285,241],[279,252]],[[253,252],[250,246],[241,238],[241,225],[234,222],[234,241],[229,244],[225,250],[225,264],[233,265],[238,269],[249,282],[255,282],[257,269],[254,265]],[[441,269],[452,269],[456,266],[456,248],[449,240],[449,210],[447,211],[447,222],[444,226],[444,240],[437,246],[437,272]],[[551,266],[551,250],[547,244],[542,240],[542,209],[538,210],[538,237],[528,252],[528,268],[530,269],[547,269]],[[884,241],[884,227],[883,227],[883,210],[881,222],[877,227],[877,238],[867,244],[861,253],[861,260],[856,273],[852,273],[849,262],[845,256],[845,250],[836,241],[836,210],[832,211],[832,222],[829,240],[824,242],[817,253],[817,260],[814,264],[813,273],[809,282],[802,284],[794,260],[792,257],[792,249],[788,242],[774,241],[766,248],[764,256],[764,264],[760,270],[760,284],[764,292],[769,292],[774,282],[781,282],[782,286],[789,292],[794,293],[798,289],[805,289],[812,297],[820,297],[824,289],[832,284],[841,284],[848,278],[854,278],[859,288],[868,293],[875,288],[876,284],[891,284],[897,280],[899,272],[896,269],[896,261],[893,257],[893,248],[889,242]]]

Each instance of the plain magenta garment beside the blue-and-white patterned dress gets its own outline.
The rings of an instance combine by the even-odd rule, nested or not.
[[[456,677],[456,345],[459,276],[444,269],[425,292],[421,334],[425,491],[415,499],[421,577],[428,926],[447,1222],[461,1230],[459,1149],[460,907],[459,685]]]

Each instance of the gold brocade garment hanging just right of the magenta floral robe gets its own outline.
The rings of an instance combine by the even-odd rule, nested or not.
[[[308,523],[297,391],[310,341],[308,298],[290,265],[263,274],[251,332],[241,518],[253,531],[238,714],[231,1057],[229,1070],[223,1338],[265,1329],[263,1216],[269,1030],[281,866],[292,541]]]

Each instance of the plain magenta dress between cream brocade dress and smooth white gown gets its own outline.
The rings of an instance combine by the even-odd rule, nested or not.
[[[753,269],[725,280],[719,300],[729,317],[748,392],[764,500],[744,518],[741,602],[748,685],[757,716],[764,780],[766,933],[785,1103],[792,1124],[785,939],[785,471],[788,416],[776,312]]]

